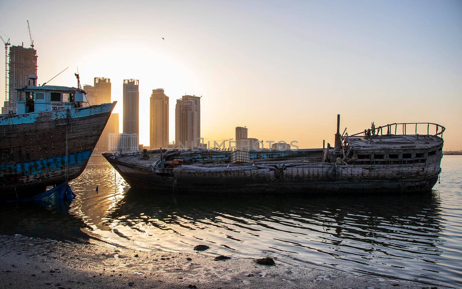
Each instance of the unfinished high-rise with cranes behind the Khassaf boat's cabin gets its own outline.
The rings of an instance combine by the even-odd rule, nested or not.
[[[9,103],[5,105],[9,105],[13,113],[16,113],[18,91],[15,88],[29,85],[29,75],[37,75],[37,51],[33,48],[25,48],[19,45],[10,46],[9,65]],[[4,106],[4,110],[8,113],[7,107]],[[2,110],[2,113],[4,110]]]

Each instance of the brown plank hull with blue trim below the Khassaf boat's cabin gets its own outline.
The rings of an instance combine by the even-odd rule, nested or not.
[[[67,111],[1,115],[0,197],[41,193],[46,186],[65,181],[66,166],[68,180],[77,178],[115,105],[72,109],[69,117]]]

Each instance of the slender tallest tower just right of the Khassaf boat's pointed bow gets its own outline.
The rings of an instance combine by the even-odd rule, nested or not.
[[[123,133],[140,134],[138,80],[123,80]]]

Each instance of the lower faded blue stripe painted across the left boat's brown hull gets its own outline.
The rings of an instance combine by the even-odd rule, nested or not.
[[[68,168],[74,166],[82,166],[90,158],[93,150],[86,152],[69,154]],[[46,160],[35,160],[24,163],[17,163],[11,165],[0,166],[0,177],[6,175],[20,174],[20,175],[36,175],[43,172],[61,171],[66,169],[66,156],[56,157]],[[6,172],[6,174],[4,173]]]

